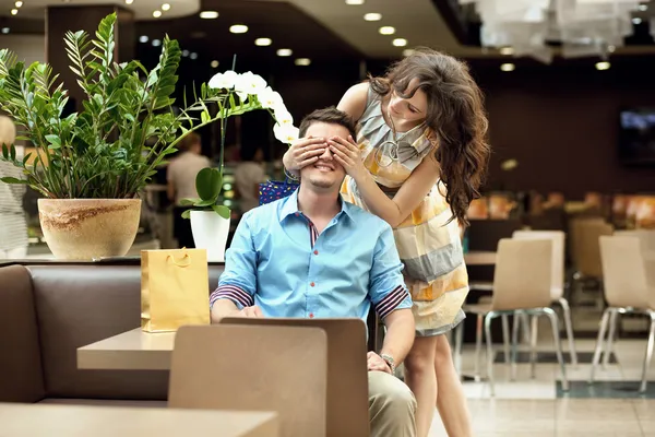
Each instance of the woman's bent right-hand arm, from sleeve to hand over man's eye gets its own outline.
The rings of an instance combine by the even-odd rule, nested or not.
[[[359,149],[353,139],[349,140],[346,141],[336,137],[330,139],[329,144],[335,160],[355,179],[357,189],[370,212],[384,220],[392,227],[397,227],[420,204],[439,180],[440,167],[434,154],[429,153],[414,169],[393,199],[390,199],[364,166]]]

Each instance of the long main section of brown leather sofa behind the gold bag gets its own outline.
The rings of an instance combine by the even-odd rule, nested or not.
[[[29,265],[46,395],[166,400],[168,371],[78,369],[78,347],[141,326],[141,267]],[[223,265],[210,268],[210,288]],[[209,298],[207,298],[209,303]]]

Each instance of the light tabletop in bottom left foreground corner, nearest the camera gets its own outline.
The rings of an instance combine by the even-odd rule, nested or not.
[[[278,426],[273,412],[0,403],[8,437],[277,437]]]

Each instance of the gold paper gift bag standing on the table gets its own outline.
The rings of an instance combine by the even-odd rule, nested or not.
[[[141,329],[176,331],[210,323],[205,249],[141,251]]]

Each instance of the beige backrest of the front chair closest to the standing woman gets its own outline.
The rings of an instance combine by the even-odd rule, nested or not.
[[[551,304],[552,240],[498,241],[492,309],[543,308]]]

